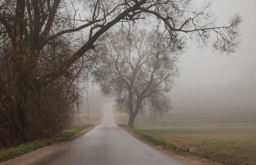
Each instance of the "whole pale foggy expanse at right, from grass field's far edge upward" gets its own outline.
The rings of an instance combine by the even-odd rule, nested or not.
[[[220,26],[236,12],[243,16],[241,46],[236,53],[222,55],[191,44],[177,64],[173,110],[256,111],[256,1],[213,0],[212,10]]]

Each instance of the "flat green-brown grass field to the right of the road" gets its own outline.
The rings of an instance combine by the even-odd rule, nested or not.
[[[127,114],[117,116],[128,122]],[[226,165],[256,165],[256,112],[171,112],[154,121],[144,115],[135,128]]]

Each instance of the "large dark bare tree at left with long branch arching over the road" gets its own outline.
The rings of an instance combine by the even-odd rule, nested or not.
[[[240,15],[216,26],[210,4],[195,8],[192,0],[0,0],[0,134],[8,134],[11,144],[32,140],[28,112],[37,109],[26,106],[31,97],[72,76],[81,57],[83,66],[92,69],[99,41],[116,26],[154,27],[163,31],[165,42],[180,49],[193,39],[199,46],[236,51]]]

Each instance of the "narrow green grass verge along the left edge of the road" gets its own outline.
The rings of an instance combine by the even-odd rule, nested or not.
[[[74,134],[80,132],[85,128],[88,128],[90,125],[91,124],[81,124],[81,125],[78,125],[76,128],[63,131],[60,134],[56,134],[52,139],[47,139],[44,141],[38,140],[32,143],[18,145],[18,147],[11,147],[6,150],[2,150],[0,152],[0,161],[14,158],[16,156],[31,152],[32,150],[36,150],[43,146],[51,145],[56,142],[70,140],[72,136],[74,136]]]

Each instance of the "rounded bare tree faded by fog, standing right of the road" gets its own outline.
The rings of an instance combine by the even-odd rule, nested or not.
[[[104,95],[116,98],[120,111],[130,114],[128,126],[134,128],[135,117],[148,104],[152,115],[168,112],[170,101],[165,92],[171,90],[177,48],[161,41],[162,34],[132,29],[113,33],[99,67],[98,82]]]

